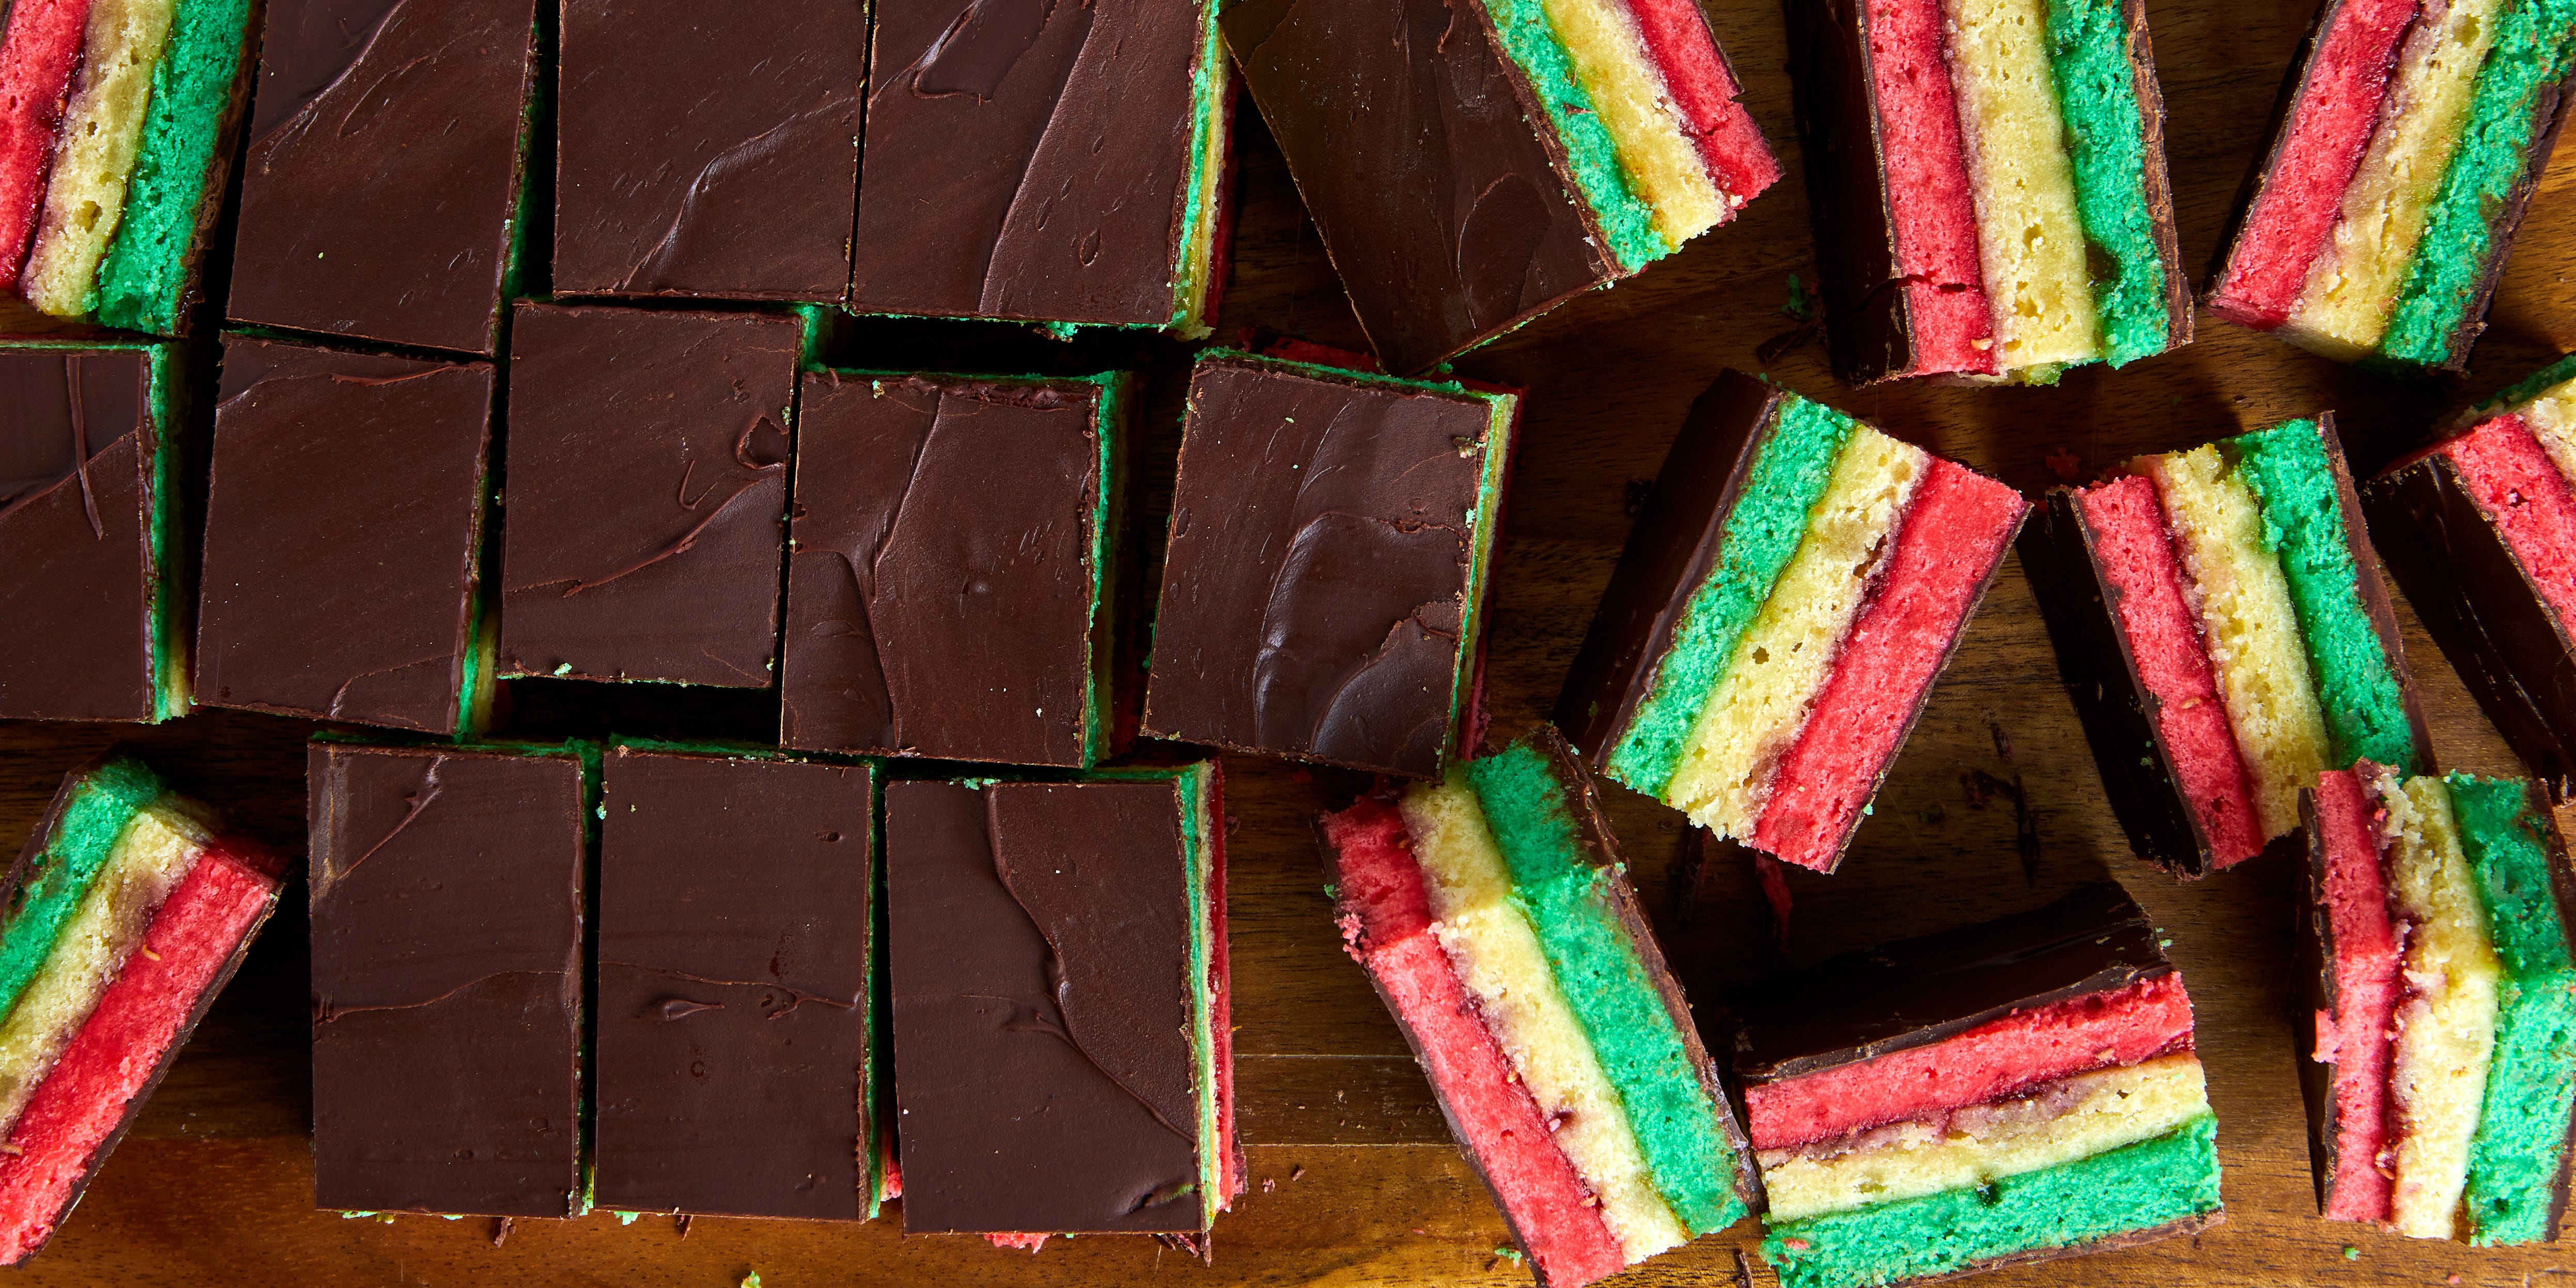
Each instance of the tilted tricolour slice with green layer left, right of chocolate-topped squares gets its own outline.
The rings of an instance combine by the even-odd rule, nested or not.
[[[1664,459],[1556,719],[1600,773],[1832,871],[2025,513],[1728,371]]]

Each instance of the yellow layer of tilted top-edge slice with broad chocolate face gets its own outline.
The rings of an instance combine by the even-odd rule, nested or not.
[[[1618,0],[1543,0],[1556,44],[1574,62],[1574,80],[1618,144],[1618,167],[1636,196],[1654,206],[1654,232],[1682,242],[1726,219],[1728,198],[1708,178],[1700,144],[1664,88],[1628,5]]]

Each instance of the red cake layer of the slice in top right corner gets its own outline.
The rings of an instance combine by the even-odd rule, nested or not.
[[[2210,296],[2218,317],[2262,330],[2290,319],[2378,129],[2398,36],[2416,10],[2416,0],[2344,0],[2318,33],[2287,139],[2275,152],[2277,165],[2254,196],[2228,250],[2226,278]]]

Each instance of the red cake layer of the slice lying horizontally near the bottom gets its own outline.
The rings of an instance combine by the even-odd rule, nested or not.
[[[2182,974],[2014,1010],[1955,1038],[1744,1087],[1754,1149],[1793,1149],[1852,1131],[2002,1100],[2089,1069],[2138,1064],[2192,1043]]]

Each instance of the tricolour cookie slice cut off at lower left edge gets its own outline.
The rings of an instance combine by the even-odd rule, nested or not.
[[[142,760],[64,775],[0,927],[0,1265],[80,1203],[276,909],[278,871]]]

